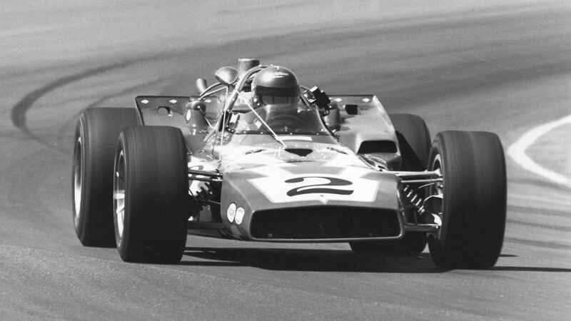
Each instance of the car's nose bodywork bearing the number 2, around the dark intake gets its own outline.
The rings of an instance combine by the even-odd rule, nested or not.
[[[222,221],[235,238],[260,240],[252,235],[253,215],[284,208],[304,209],[305,213],[310,213],[312,208],[326,206],[331,212],[330,220],[335,220],[336,208],[384,209],[392,211],[398,220],[397,184],[398,179],[390,173],[320,163],[282,163],[235,170],[226,172],[222,183]],[[228,215],[233,206],[243,208],[243,216],[238,221],[236,218],[231,220],[232,213]],[[398,238],[401,234],[402,231],[398,230],[392,236]],[[318,236],[265,240],[303,242],[316,239]]]

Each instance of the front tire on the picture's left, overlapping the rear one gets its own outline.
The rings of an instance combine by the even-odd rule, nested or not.
[[[121,259],[178,263],[186,245],[188,165],[182,132],[131,126],[119,136],[113,220]]]

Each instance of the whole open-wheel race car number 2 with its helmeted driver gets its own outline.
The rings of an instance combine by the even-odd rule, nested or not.
[[[495,265],[506,219],[493,133],[444,131],[374,95],[326,95],[287,68],[240,59],[198,96],[138,96],[76,126],[72,195],[86,246],[176,263],[186,235],[349,243],[440,267]]]

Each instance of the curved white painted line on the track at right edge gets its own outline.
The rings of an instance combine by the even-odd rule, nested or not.
[[[525,150],[530,147],[538,138],[545,135],[545,133],[551,131],[559,126],[571,123],[571,115],[558,119],[557,121],[550,121],[549,123],[544,123],[540,126],[532,128],[530,131],[525,133],[520,137],[515,143],[507,148],[507,155],[512,158],[515,163],[521,165],[523,168],[530,170],[537,175],[542,175],[543,177],[551,180],[552,182],[565,185],[571,188],[571,179],[567,178],[559,173],[552,172],[547,168],[543,168],[541,165],[535,163],[527,154]],[[569,142],[562,142],[569,143]]]

